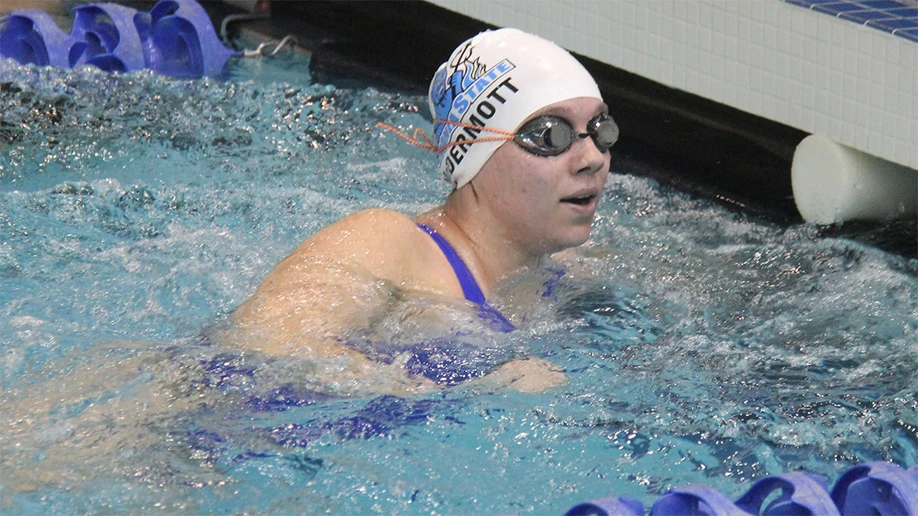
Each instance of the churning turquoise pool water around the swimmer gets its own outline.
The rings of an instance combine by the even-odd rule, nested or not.
[[[558,364],[563,387],[343,397],[333,365],[202,345],[309,234],[448,193],[375,126],[428,127],[424,98],[312,84],[292,53],[230,67],[0,61],[0,512],[562,513],[918,464],[918,260],[615,173],[614,153],[576,274],[518,331],[461,337]]]

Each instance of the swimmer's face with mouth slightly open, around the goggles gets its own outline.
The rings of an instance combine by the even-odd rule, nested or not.
[[[588,122],[607,109],[598,99],[576,98],[551,104],[526,121],[553,115],[567,120],[577,133],[586,133]],[[472,184],[482,207],[504,224],[507,240],[532,254],[554,253],[589,238],[609,161],[608,151],[600,152],[592,138],[576,139],[565,152],[550,157],[509,141]]]

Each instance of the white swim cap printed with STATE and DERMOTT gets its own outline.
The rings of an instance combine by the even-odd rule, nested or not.
[[[461,187],[506,138],[447,147],[494,134],[436,120],[513,131],[535,111],[578,97],[602,100],[593,77],[563,48],[518,29],[478,34],[459,45],[430,82],[437,170]]]

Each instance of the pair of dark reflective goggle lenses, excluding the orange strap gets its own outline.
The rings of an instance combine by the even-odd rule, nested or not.
[[[600,152],[607,152],[618,141],[618,125],[603,113],[590,120],[585,134],[579,134],[567,120],[545,115],[524,124],[513,141],[537,156],[557,156],[569,149],[574,140],[587,136],[593,139]]]

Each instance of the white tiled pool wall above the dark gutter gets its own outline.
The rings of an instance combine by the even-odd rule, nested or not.
[[[905,38],[780,0],[428,1],[918,169]]]

